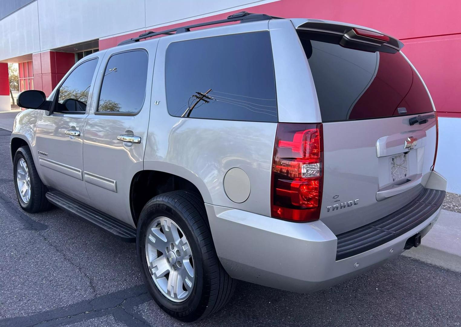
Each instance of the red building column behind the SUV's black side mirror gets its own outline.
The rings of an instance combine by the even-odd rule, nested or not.
[[[44,51],[32,54],[34,89],[50,95],[65,73],[75,64],[75,54]]]

